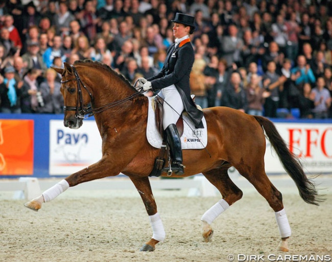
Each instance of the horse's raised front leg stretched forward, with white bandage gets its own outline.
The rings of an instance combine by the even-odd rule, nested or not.
[[[93,164],[87,168],[84,168],[72,175],[67,176],[65,179],[62,179],[53,187],[44,191],[39,197],[36,197],[24,205],[33,211],[38,211],[41,208],[42,203],[50,202],[61,193],[66,191],[69,187],[74,187],[83,182],[91,181],[94,179],[103,178],[106,176],[115,176],[120,173],[118,169],[112,165],[109,161],[102,159],[96,164]]]

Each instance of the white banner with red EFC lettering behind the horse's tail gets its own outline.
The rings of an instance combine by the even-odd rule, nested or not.
[[[300,158],[306,173],[332,170],[332,125],[330,123],[275,123],[288,148]],[[266,173],[286,173],[267,140]]]

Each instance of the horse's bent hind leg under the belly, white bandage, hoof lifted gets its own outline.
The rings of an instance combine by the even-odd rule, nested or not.
[[[236,187],[236,185],[228,176],[227,170],[230,167],[230,164],[226,164],[221,168],[203,173],[207,180],[209,180],[223,196],[223,198],[210,209],[208,209],[208,211],[206,211],[201,218],[203,222],[202,235],[205,242],[209,242],[213,235],[211,223],[231,204],[242,198],[242,191]]]

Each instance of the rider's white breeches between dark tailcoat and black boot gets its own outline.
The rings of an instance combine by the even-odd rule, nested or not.
[[[158,95],[164,99],[162,126],[163,129],[166,129],[170,124],[176,124],[184,110],[184,106],[181,96],[174,85],[161,89]]]

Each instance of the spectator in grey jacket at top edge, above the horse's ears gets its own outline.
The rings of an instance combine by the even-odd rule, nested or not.
[[[60,36],[69,34],[69,24],[75,19],[68,11],[67,3],[60,1],[59,3],[59,12],[56,13],[52,20],[52,25],[55,26],[56,34]]]

